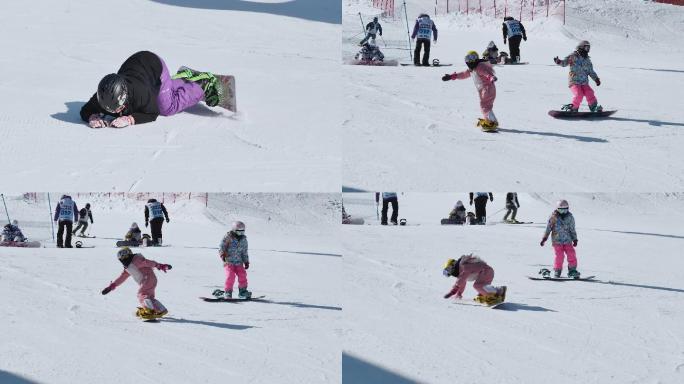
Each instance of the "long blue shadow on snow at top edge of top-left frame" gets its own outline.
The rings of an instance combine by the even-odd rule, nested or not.
[[[278,16],[342,24],[340,0],[289,0],[280,3],[260,3],[245,0],[152,0],[156,3],[199,9],[269,13]]]

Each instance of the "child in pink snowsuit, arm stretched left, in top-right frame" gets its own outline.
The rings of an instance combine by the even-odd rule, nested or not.
[[[478,119],[477,126],[483,129],[496,129],[499,126],[499,122],[492,110],[494,99],[496,99],[496,86],[494,82],[497,80],[494,75],[494,68],[485,60],[480,59],[475,51],[468,52],[465,57],[465,63],[468,66],[467,70],[446,74],[442,76],[442,80],[461,80],[472,76],[480,96],[480,109],[484,116],[484,119]]]

